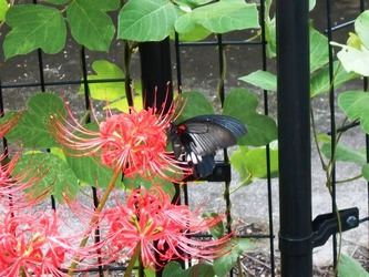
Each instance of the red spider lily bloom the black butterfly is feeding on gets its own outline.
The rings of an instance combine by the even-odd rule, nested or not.
[[[174,110],[174,107],[172,107]],[[72,122],[61,115],[51,116],[50,132],[55,140],[70,148],[71,155],[98,155],[102,164],[122,171],[126,177],[139,174],[144,178],[160,176],[180,181],[191,174],[188,166],[166,151],[167,129],[173,113],[156,113],[156,109],[112,114],[99,122],[99,131],[82,126],[72,115]],[[95,116],[95,115],[94,115]]]

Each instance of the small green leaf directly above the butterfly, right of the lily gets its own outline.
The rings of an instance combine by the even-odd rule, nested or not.
[[[214,114],[213,105],[207,98],[197,91],[183,92],[180,94],[185,107],[183,109],[177,122],[202,114]],[[178,109],[181,110],[181,109]]]

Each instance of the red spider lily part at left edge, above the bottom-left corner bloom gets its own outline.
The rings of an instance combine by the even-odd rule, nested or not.
[[[0,155],[0,198],[2,205],[8,204],[11,208],[20,207],[20,205],[29,206],[31,197],[25,198],[24,189],[37,185],[47,173],[42,165],[33,164],[16,173],[21,153],[18,151],[12,158],[9,158],[8,151]]]

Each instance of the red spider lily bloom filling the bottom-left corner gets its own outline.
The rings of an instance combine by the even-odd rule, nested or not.
[[[66,276],[60,268],[75,254],[71,238],[61,235],[54,212],[50,216],[8,213],[0,219],[1,276]]]

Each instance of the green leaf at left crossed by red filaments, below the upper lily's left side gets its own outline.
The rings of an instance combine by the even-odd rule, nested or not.
[[[27,189],[25,193],[31,198],[53,195],[59,203],[62,203],[65,197],[73,199],[79,192],[76,176],[65,161],[58,155],[51,153],[23,154],[16,167],[16,173],[22,174],[22,172],[32,172],[33,176],[40,176],[40,172],[45,173],[37,185]]]

